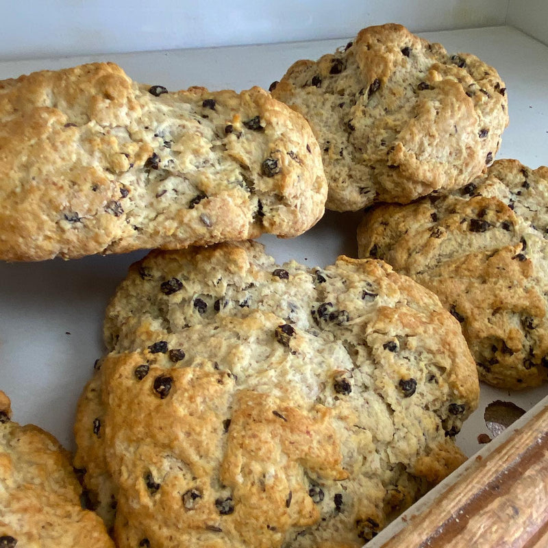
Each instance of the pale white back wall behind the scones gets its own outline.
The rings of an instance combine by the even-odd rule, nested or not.
[[[508,2],[0,0],[0,60],[340,38],[388,21],[414,32],[486,27],[505,23]]]

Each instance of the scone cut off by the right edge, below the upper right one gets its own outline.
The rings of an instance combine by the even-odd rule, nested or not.
[[[358,250],[440,297],[480,379],[501,388],[548,379],[547,167],[497,160],[447,197],[373,208]]]

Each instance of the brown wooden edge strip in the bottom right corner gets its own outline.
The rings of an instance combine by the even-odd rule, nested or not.
[[[382,545],[447,547],[548,547],[548,406]]]

